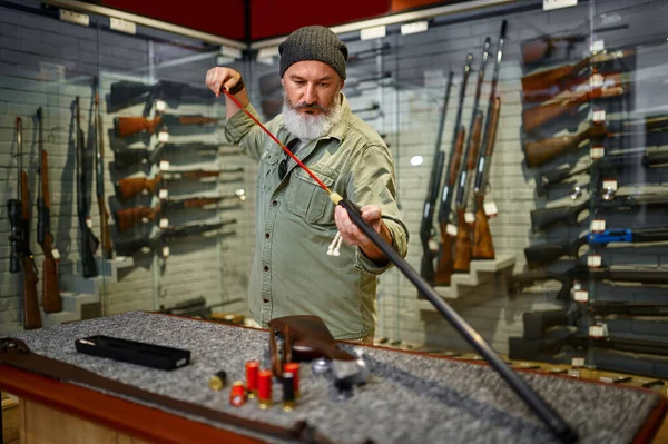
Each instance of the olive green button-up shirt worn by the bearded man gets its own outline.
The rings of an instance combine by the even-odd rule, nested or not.
[[[342,95],[343,118],[330,134],[302,146],[296,156],[332,190],[360,207],[381,207],[394,248],[405,257],[409,231],[395,201],[394,164],[377,132],[351,112]],[[247,110],[258,118],[253,106]],[[283,126],[283,115],[266,125],[282,144],[294,136]],[[341,247],[327,256],[336,235],[334,204],[293,159],[287,175],[278,165],[287,156],[243,111],[225,127],[228,140],[259,161],[255,219],[255,258],[248,286],[250,314],[266,327],[275,318],[320,316],[335,338],[353,339],[374,334],[376,276],[380,267],[358,247]]]

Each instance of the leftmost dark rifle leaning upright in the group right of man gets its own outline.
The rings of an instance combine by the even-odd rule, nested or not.
[[[443,138],[443,129],[445,128],[445,116],[448,114],[448,103],[450,102],[450,90],[452,89],[452,77],[454,72],[448,75],[448,83],[445,86],[445,97],[443,98],[443,109],[439,120],[439,130],[436,131],[436,144],[434,149],[434,159],[432,161],[432,170],[429,177],[429,189],[424,199],[422,210],[422,221],[420,224],[420,240],[422,241],[422,265],[420,274],[429,283],[434,282],[434,259],[438,250],[432,250],[429,243],[434,235],[434,214],[436,200],[439,199],[439,190],[441,189],[441,176],[445,166],[445,152],[441,149],[441,139]]]

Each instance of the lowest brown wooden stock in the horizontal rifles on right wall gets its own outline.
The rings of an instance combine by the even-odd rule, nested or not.
[[[606,134],[605,122],[591,122],[587,129],[574,135],[525,142],[523,147],[527,167],[538,167],[557,157],[576,151],[583,140],[605,137]]]

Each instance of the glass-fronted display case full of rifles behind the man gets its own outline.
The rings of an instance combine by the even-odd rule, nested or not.
[[[42,325],[161,307],[246,314],[257,166],[226,142],[224,100],[204,79],[238,69],[272,119],[282,39],[127,34],[102,16],[81,26],[19,3],[0,7],[0,193],[30,203],[36,267],[12,231],[21,211],[2,207],[0,334],[23,328],[24,307]],[[333,28],[350,52],[343,92],[394,158],[407,262],[510,359],[667,377],[668,6],[452,10]],[[41,287],[42,148],[60,310]],[[396,269],[376,304],[376,343],[469,351]]]

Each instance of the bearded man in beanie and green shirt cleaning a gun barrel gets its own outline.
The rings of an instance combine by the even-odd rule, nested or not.
[[[396,206],[392,157],[341,92],[345,43],[313,26],[294,31],[278,51],[283,112],[267,129],[330,189],[356,203],[364,219],[405,257],[409,234]],[[206,85],[217,97],[226,88],[257,118],[238,71],[213,68]],[[337,339],[373,343],[377,275],[391,264],[234,101],[226,97],[225,105],[228,140],[259,162],[250,314],[263,327],[275,317],[316,315]],[[331,247],[337,231],[347,245],[340,251]]]

